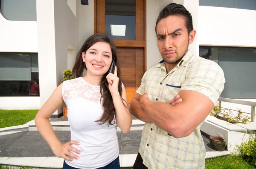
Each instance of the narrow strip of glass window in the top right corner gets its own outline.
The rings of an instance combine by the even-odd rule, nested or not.
[[[256,0],[199,0],[199,5],[256,10]]]

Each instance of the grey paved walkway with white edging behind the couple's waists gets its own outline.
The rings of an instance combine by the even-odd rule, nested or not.
[[[50,122],[62,143],[70,141],[67,118],[51,119]],[[24,131],[14,132],[10,128],[8,129],[9,133],[4,132],[3,129],[0,131],[0,164],[62,168],[63,159],[55,157],[46,141],[36,131],[35,123],[31,121],[28,124],[28,129],[24,127]],[[134,164],[140,146],[143,125],[144,122],[133,117],[130,132],[124,134],[118,128],[117,136],[121,167],[128,167]],[[13,128],[17,129],[17,126]],[[3,135],[3,133],[5,134]],[[206,158],[230,154],[228,151],[217,152],[211,149],[209,138],[207,138],[207,135],[205,136],[203,136],[203,139],[207,150]]]

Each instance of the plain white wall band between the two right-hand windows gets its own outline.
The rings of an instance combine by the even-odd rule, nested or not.
[[[198,42],[205,46],[256,47],[256,11],[199,6]]]

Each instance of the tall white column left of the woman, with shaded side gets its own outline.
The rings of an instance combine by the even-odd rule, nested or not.
[[[67,69],[67,0],[37,0],[38,64],[41,106],[61,83]],[[53,115],[62,112],[58,109]]]

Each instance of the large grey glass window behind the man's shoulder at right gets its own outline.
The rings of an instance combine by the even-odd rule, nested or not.
[[[211,57],[218,60],[226,79],[221,97],[256,98],[256,49],[211,47],[210,50]],[[204,47],[200,46],[199,52],[202,51]]]

